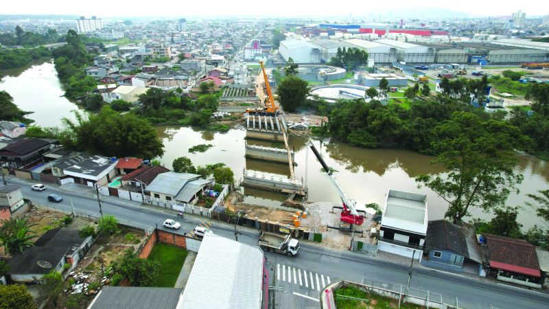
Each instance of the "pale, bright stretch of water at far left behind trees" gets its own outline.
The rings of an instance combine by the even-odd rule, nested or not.
[[[53,62],[34,65],[16,76],[5,76],[0,80],[1,90],[10,93],[23,111],[33,111],[27,117],[39,126],[61,126],[62,117],[74,119],[71,111],[78,110],[76,104],[62,97],[65,91]]]

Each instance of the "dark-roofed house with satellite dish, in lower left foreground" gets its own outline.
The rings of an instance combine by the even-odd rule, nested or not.
[[[93,238],[82,238],[78,229],[58,227],[50,229],[34,242],[34,246],[25,248],[8,262],[8,275],[17,283],[33,283],[50,271],[58,271],[64,277],[68,275],[84,258]],[[65,264],[71,267],[65,269]]]

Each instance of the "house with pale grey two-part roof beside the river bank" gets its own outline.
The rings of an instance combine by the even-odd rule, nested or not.
[[[202,194],[204,187],[212,182],[198,174],[165,172],[156,176],[145,189],[145,194],[152,201],[196,204],[198,194]]]

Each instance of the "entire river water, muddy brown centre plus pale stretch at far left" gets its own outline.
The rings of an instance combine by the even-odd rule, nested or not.
[[[62,117],[73,119],[71,110],[78,106],[62,97],[64,91],[56,76],[54,65],[45,62],[23,71],[16,77],[5,77],[0,81],[0,90],[8,91],[15,104],[23,111],[34,111],[30,118],[40,126],[59,126]],[[268,141],[253,141],[244,138],[244,130],[229,130],[227,133],[211,133],[191,127],[158,126],[156,131],[163,140],[165,154],[161,162],[172,168],[177,157],[189,157],[195,166],[222,162],[235,172],[235,179],[242,179],[244,168],[276,174],[289,175],[287,164],[264,162],[244,157],[244,143],[283,148],[283,144]],[[340,203],[338,194],[323,172],[320,163],[311,151],[307,151],[307,137],[290,137],[290,147],[295,150],[296,176],[309,187],[309,201]],[[336,178],[350,198],[358,203],[384,204],[389,189],[419,192],[428,195],[429,220],[443,218],[447,204],[428,188],[417,188],[414,177],[419,174],[439,174],[445,171],[430,164],[433,157],[408,150],[362,149],[338,141],[313,140],[326,163],[338,172]],[[189,153],[188,149],[198,144],[212,144],[206,152]],[[519,185],[520,194],[511,194],[507,205],[524,206],[538,190],[549,188],[549,164],[529,155],[521,155],[517,172],[524,176]],[[259,205],[280,205],[286,196],[272,192],[244,189],[246,203]],[[489,214],[471,209],[474,216],[489,218]],[[524,207],[519,212],[519,222],[525,229],[543,224],[534,209]]]

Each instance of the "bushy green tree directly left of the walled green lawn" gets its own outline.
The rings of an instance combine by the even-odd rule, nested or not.
[[[150,286],[159,275],[159,262],[138,258],[133,248],[129,248],[124,257],[111,264],[113,271],[130,280],[132,286]]]

